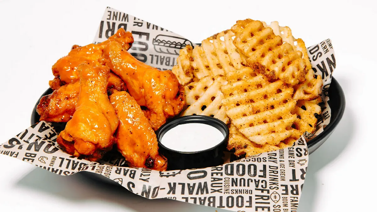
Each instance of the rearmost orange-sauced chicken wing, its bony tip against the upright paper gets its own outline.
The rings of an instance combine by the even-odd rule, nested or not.
[[[54,80],[49,82],[52,89],[57,89],[63,84],[77,81],[79,74],[77,66],[86,63],[90,66],[98,66],[98,59],[102,55],[102,50],[107,43],[114,41],[119,43],[124,49],[129,49],[133,43],[131,32],[126,32],[123,28],[109,37],[106,41],[98,44],[89,44],[86,46],[74,45],[67,56],[60,58],[53,66],[52,73]]]

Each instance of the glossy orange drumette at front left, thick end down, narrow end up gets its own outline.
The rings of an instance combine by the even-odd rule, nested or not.
[[[118,117],[106,92],[110,69],[84,63],[77,70],[80,94],[76,111],[58,135],[57,143],[69,154],[98,161],[115,144],[113,134],[118,127]]]

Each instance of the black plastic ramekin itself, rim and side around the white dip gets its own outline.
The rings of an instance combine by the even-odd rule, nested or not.
[[[213,126],[224,135],[224,140],[222,140],[221,143],[217,144],[214,147],[196,152],[176,151],[169,149],[161,143],[161,138],[167,131],[180,124],[187,123],[202,123]],[[167,158],[168,170],[205,168],[224,164],[222,157],[224,157],[223,151],[225,150],[228,142],[229,129],[224,122],[218,120],[217,118],[202,115],[184,116],[161,126],[161,128],[156,132],[156,135],[159,152]],[[179,142],[179,140],[177,140],[177,142]]]

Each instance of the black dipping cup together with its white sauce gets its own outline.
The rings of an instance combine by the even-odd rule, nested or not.
[[[224,164],[222,157],[228,142],[229,129],[217,118],[184,116],[161,126],[156,135],[159,152],[167,158],[168,170]]]

